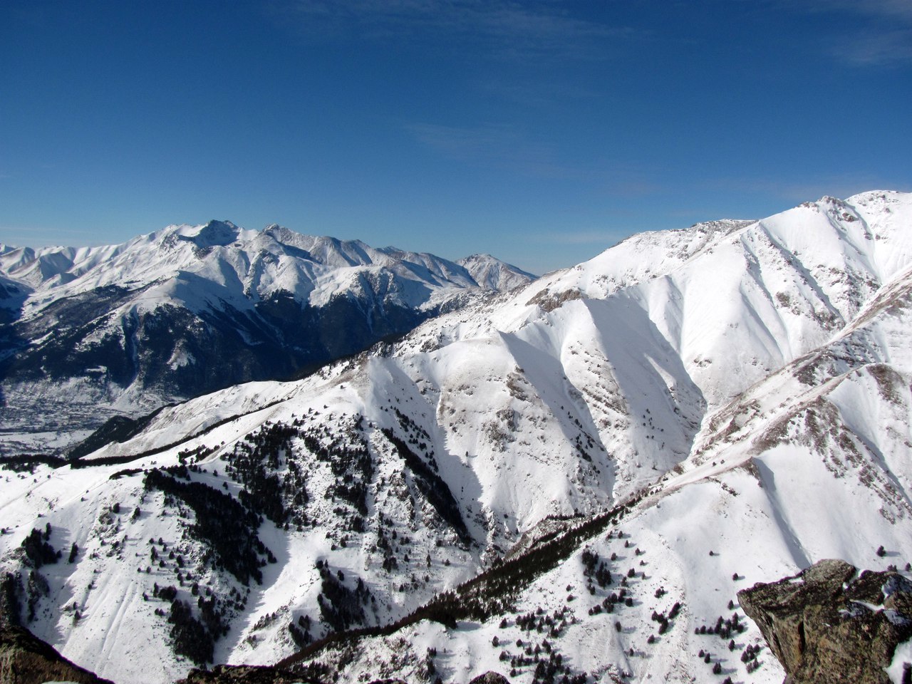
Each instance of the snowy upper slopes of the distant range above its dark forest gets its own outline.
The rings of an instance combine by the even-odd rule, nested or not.
[[[314,306],[358,288],[359,277],[389,277],[403,306],[425,308],[452,290],[501,289],[530,275],[487,256],[472,268],[395,247],[375,249],[356,241],[295,233],[278,225],[245,230],[230,222],[171,225],[128,243],[102,247],[16,248],[0,244],[0,275],[30,291],[29,316],[61,297],[106,285],[136,290],[140,310],[165,303],[199,309],[221,300],[233,306],[285,290]],[[195,276],[195,277],[190,277]],[[203,286],[205,285],[205,286]],[[249,306],[249,304],[247,305]]]

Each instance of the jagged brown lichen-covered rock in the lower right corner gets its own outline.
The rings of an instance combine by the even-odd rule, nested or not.
[[[824,560],[738,593],[789,684],[889,684],[884,668],[912,637],[912,582]]]

